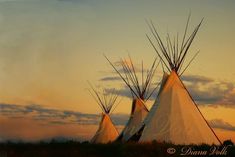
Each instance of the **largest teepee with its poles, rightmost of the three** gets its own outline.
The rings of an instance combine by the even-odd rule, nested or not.
[[[149,24],[156,44],[149,36],[147,37],[170,74],[146,117],[140,142],[156,140],[174,144],[221,144],[180,79],[180,76],[198,54],[196,53],[182,68],[202,21],[186,38],[188,23],[189,18],[181,44],[178,44],[178,34],[174,41],[167,34],[167,41],[164,44],[153,23]]]

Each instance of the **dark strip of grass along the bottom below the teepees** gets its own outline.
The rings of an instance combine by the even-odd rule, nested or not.
[[[39,142],[0,144],[0,157],[176,157],[176,156],[230,156],[235,157],[235,146],[173,145],[152,142],[90,144],[88,142]],[[189,151],[191,149],[191,151]],[[216,151],[215,151],[216,150]],[[187,154],[186,152],[190,152]],[[214,152],[211,154],[211,152]],[[183,155],[184,154],[184,155]],[[210,155],[211,154],[211,155]]]

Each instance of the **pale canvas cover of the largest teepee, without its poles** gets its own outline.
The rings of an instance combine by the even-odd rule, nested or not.
[[[220,144],[175,71],[155,103],[157,107],[150,111],[140,142]]]

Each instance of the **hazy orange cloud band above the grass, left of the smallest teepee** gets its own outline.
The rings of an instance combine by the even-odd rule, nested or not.
[[[66,124],[48,125],[46,122],[32,120],[30,117],[10,119],[0,117],[2,140],[16,139],[38,141],[53,137],[67,137],[78,140],[89,140],[95,132],[96,125]]]

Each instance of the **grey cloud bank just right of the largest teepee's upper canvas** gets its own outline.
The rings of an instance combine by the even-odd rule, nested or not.
[[[235,85],[233,82],[216,81],[199,75],[185,75],[182,80],[198,103],[235,107]]]

